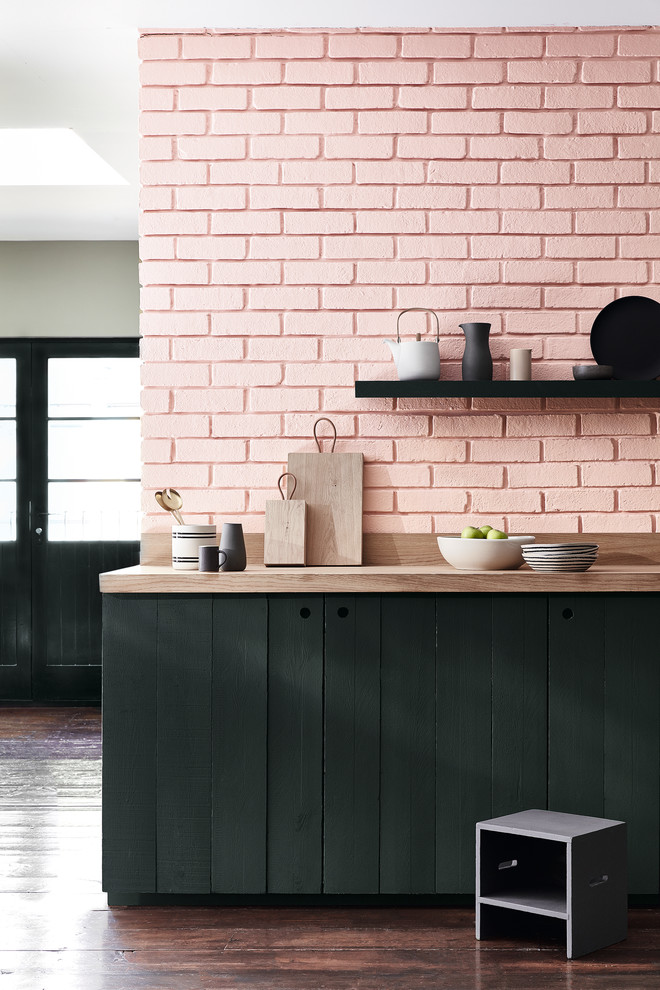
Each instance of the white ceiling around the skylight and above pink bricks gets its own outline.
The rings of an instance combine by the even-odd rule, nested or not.
[[[7,2],[0,127],[72,127],[130,184],[0,187],[0,240],[137,237],[138,28],[641,25],[660,20],[660,0],[332,0],[318,11],[309,0]]]

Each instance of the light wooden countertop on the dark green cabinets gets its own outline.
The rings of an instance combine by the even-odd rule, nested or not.
[[[143,564],[100,576],[110,594],[368,594],[385,592],[656,592],[660,564],[596,563],[581,574],[547,574],[523,564],[517,571],[459,571],[445,564],[363,567],[264,567],[202,574]]]

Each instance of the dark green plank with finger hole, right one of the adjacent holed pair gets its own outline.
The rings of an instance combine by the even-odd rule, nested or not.
[[[378,893],[380,598],[325,600],[323,889]]]

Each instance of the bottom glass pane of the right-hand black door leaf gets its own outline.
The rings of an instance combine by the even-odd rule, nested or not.
[[[139,481],[49,481],[48,539],[139,540]]]

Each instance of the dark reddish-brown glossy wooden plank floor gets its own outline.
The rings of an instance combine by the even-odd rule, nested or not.
[[[108,908],[100,715],[0,708],[1,990],[660,990],[660,910],[567,962],[465,908]]]

